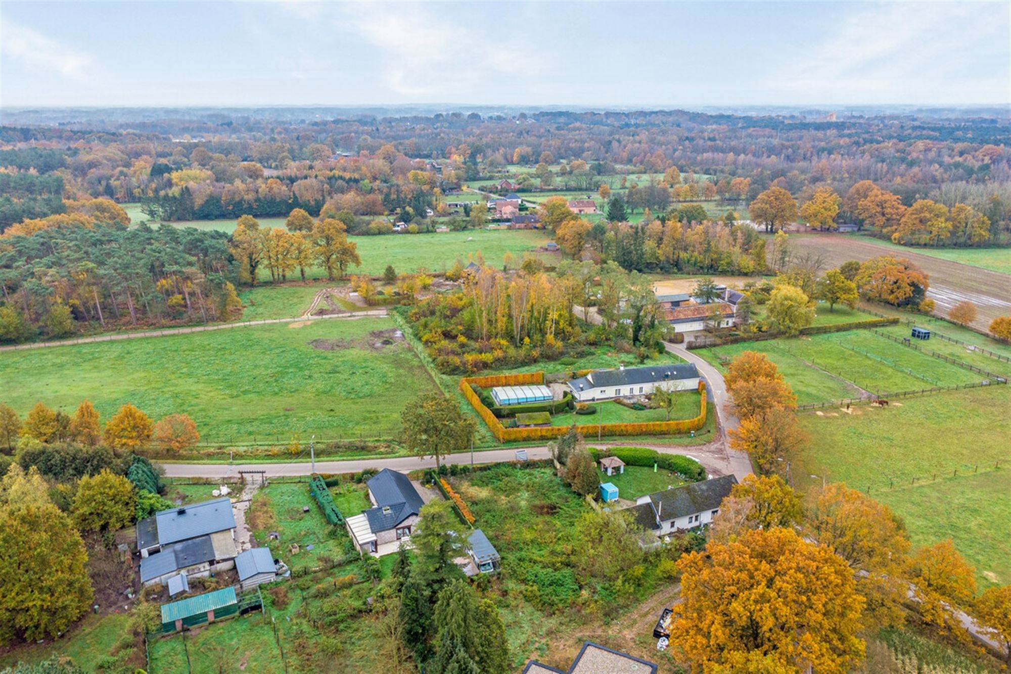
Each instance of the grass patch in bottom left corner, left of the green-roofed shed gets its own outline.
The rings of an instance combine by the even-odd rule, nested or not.
[[[71,628],[62,639],[45,640],[42,644],[22,646],[10,653],[0,654],[0,668],[12,667],[18,662],[36,663],[53,655],[67,656],[86,672],[93,672],[101,661],[111,656],[128,657],[133,638],[130,634],[131,618],[126,613],[106,615],[86,614],[81,622]],[[126,649],[121,646],[129,644]],[[144,664],[144,644],[141,644],[140,663]],[[152,670],[158,671],[158,670]],[[173,670],[164,670],[173,671]]]

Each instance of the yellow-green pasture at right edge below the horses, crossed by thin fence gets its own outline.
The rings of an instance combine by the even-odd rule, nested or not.
[[[981,583],[1011,582],[1008,396],[995,386],[908,398],[886,409],[861,406],[852,414],[803,413],[810,441],[795,460],[795,482],[804,489],[825,477],[869,487],[871,497],[905,518],[915,544],[953,538]],[[997,462],[1002,467],[992,470]],[[977,466],[981,472],[973,475]],[[907,486],[913,478],[918,484]]]

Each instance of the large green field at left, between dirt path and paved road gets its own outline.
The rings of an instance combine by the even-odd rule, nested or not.
[[[405,402],[435,389],[407,345],[369,346],[369,332],[391,327],[316,320],[7,352],[0,381],[22,415],[39,400],[73,413],[89,398],[105,420],[132,402],[155,419],[189,414],[208,444],[391,438]],[[310,345],[319,340],[333,350]]]

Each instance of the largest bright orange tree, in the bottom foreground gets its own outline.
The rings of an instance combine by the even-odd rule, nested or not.
[[[705,672],[843,674],[863,657],[852,570],[793,529],[745,532],[677,563],[670,643]]]

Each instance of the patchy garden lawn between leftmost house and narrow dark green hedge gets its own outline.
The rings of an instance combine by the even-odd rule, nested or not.
[[[305,506],[308,512],[302,511]],[[274,483],[258,490],[253,497],[250,522],[257,542],[268,546],[274,558],[283,559],[292,570],[318,566],[320,555],[341,557],[351,545],[347,529],[343,525],[332,526],[323,516],[319,505],[309,494],[308,482]],[[280,540],[268,539],[270,532],[277,532]],[[295,555],[289,552],[292,544],[299,547]],[[312,550],[306,546],[312,546]]]

